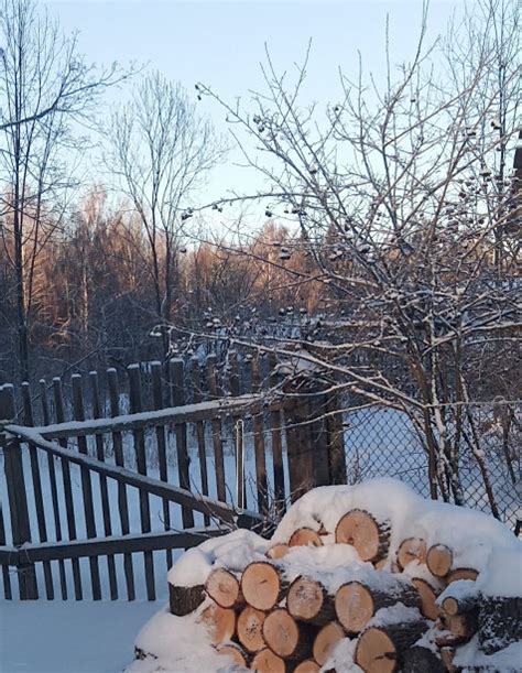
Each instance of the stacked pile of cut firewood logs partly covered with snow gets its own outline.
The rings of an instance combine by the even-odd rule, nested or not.
[[[335,530],[318,521],[284,541],[275,535],[240,571],[215,563],[205,583],[170,584],[171,611],[196,611],[220,653],[259,673],[337,671],[335,650],[347,639],[354,671],[453,672],[464,670],[456,654],[472,639],[481,655],[522,639],[516,591],[500,582],[492,595],[480,563],[461,566],[459,550],[421,536],[392,544],[392,529],[351,509]],[[512,572],[520,553],[507,556]]]

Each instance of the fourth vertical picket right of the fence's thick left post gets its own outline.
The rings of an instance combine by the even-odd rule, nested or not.
[[[73,414],[76,421],[85,421],[84,410],[84,392],[81,389],[81,376],[74,373],[70,377],[70,383],[73,386]],[[78,451],[84,456],[88,455],[87,438],[85,435],[78,436]],[[90,479],[89,468],[85,465],[80,465],[80,478],[81,478],[81,493],[84,496],[84,517],[85,517],[85,529],[87,538],[96,538],[96,519],[95,519],[95,506],[93,502],[93,482]],[[100,582],[100,568],[98,558],[89,558],[90,565],[90,582],[93,585],[93,598],[94,600],[101,600],[101,582]]]

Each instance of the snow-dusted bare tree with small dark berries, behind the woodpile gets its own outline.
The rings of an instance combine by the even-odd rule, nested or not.
[[[479,9],[431,46],[425,9],[413,59],[396,68],[387,31],[384,86],[362,68],[355,82],[341,73],[339,101],[325,111],[300,102],[306,62],[292,83],[269,54],[265,90],[248,110],[198,90],[226,108],[247,162],[272,185],[243,198],[293,221],[286,258],[313,259],[302,282],[330,298],[320,327],[313,321],[293,345],[300,357],[351,399],[410,415],[432,497],[464,502],[459,466],[470,455],[499,515],[476,412],[496,395],[509,410],[521,392],[507,376],[521,363],[520,185],[508,170],[520,22],[516,2]],[[292,356],[287,340],[236,340]],[[505,458],[515,481],[516,456]]]

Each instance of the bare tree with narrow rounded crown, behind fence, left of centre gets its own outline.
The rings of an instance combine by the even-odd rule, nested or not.
[[[180,84],[149,75],[113,115],[106,163],[140,216],[150,247],[154,321],[173,317],[184,224],[191,198],[224,149]],[[151,317],[152,317],[151,316]],[[168,339],[164,337],[165,355]]]

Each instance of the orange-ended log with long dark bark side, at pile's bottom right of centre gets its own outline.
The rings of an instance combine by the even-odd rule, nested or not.
[[[365,673],[393,673],[402,664],[402,653],[426,630],[423,619],[369,627],[357,642],[355,662]]]

